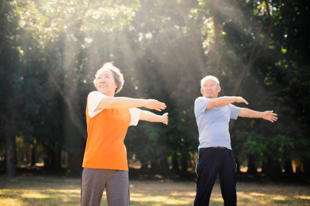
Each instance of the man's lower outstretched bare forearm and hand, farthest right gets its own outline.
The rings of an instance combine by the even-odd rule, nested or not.
[[[276,122],[278,120],[278,115],[274,113],[274,111],[265,111],[258,112],[254,110],[250,110],[248,108],[241,108],[239,117],[248,117],[248,118],[262,118],[264,120],[268,120],[270,122]]]

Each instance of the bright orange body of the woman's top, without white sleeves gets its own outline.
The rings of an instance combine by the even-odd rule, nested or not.
[[[87,103],[88,137],[82,166],[128,171],[124,138],[130,121],[129,109],[104,109],[91,118],[88,115]]]

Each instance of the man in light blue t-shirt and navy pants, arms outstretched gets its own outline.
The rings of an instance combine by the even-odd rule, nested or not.
[[[217,173],[224,205],[236,205],[236,163],[230,146],[229,120],[230,118],[248,117],[275,122],[278,119],[277,114],[273,111],[257,112],[231,105],[234,102],[243,102],[248,105],[248,102],[240,96],[217,97],[221,87],[214,76],[206,76],[201,80],[200,91],[203,96],[195,100],[200,145],[196,167],[198,180],[194,206],[209,205]]]

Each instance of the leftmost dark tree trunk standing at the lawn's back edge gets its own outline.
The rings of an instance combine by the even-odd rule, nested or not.
[[[15,146],[15,136],[9,134],[6,136],[6,144],[7,144],[7,175],[9,177],[16,176],[16,168],[15,168],[15,160],[16,160],[16,146]]]

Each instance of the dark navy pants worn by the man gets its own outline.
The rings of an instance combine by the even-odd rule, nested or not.
[[[197,194],[194,201],[194,206],[209,205],[211,191],[219,174],[220,187],[224,205],[237,205],[237,181],[234,153],[230,149],[223,148],[199,148],[198,162],[196,172],[197,180]]]

